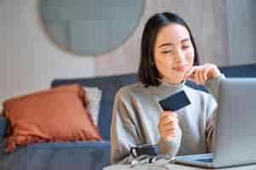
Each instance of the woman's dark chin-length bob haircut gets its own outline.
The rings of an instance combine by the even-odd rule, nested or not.
[[[195,40],[192,36],[187,23],[177,14],[162,13],[154,14],[146,23],[143,31],[142,43],[141,43],[141,60],[137,73],[137,78],[140,82],[148,86],[158,86],[160,84],[160,74],[154,65],[154,42],[156,40],[157,33],[160,28],[170,23],[176,23],[184,26],[189,31],[189,36],[195,51],[194,65],[199,64],[198,52],[195,46]]]

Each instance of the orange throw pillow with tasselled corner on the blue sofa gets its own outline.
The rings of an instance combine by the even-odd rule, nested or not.
[[[3,108],[11,128],[6,150],[13,152],[17,144],[102,140],[87,103],[78,84],[6,100]]]

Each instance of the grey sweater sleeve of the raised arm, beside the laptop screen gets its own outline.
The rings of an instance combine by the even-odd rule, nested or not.
[[[218,86],[224,80],[224,75],[220,74],[216,78],[207,81],[206,88],[212,94],[213,98],[208,99],[207,103],[207,150],[212,152],[215,150],[215,131],[216,131],[216,118],[218,114]]]

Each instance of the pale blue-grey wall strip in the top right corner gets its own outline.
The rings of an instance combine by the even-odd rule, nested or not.
[[[256,63],[256,1],[227,0],[230,64]]]

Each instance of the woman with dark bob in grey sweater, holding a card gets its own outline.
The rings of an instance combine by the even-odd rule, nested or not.
[[[111,162],[130,154],[130,147],[157,144],[161,155],[201,154],[213,150],[218,82],[213,64],[197,65],[198,54],[189,26],[177,14],[154,14],[146,23],[141,46],[139,82],[119,89],[111,124]],[[186,80],[212,92],[189,88]],[[163,111],[161,99],[184,90],[191,105]]]

